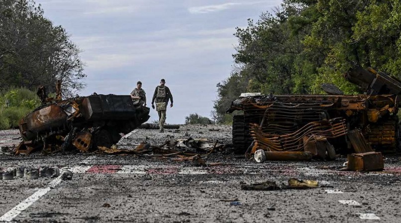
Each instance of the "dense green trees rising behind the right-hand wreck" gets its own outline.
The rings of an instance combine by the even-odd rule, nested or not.
[[[360,93],[342,74],[373,67],[400,78],[400,0],[284,0],[246,28],[236,28],[235,66],[217,84],[213,118],[225,114],[242,92],[321,94],[322,83]]]

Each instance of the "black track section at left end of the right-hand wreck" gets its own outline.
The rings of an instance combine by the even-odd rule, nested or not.
[[[244,115],[234,115],[232,118],[232,145],[235,153],[244,154],[252,141],[249,123],[244,121]]]

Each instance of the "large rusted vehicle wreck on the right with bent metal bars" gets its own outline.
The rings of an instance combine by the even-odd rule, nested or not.
[[[312,150],[316,155],[317,144],[325,142],[331,148],[327,153],[335,155],[353,152],[352,148],[357,150],[358,145],[354,144],[359,140],[359,147],[367,144],[382,152],[396,151],[400,138],[397,112],[401,82],[360,67],[350,69],[344,77],[365,94],[334,95],[338,90],[326,91],[330,95],[241,94],[226,111],[243,111],[243,115],[233,116],[234,148],[247,154],[264,149]]]

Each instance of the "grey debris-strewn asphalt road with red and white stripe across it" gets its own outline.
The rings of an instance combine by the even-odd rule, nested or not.
[[[219,129],[219,130],[217,130]],[[158,133],[137,130],[119,145],[168,138],[207,138],[230,143],[229,126],[181,127]],[[1,132],[12,144],[15,131]],[[10,140],[8,140],[10,139]],[[1,139],[0,139],[1,140]],[[5,143],[5,142],[3,142]],[[4,146],[4,144],[2,144]],[[0,144],[1,146],[1,144]],[[385,158],[385,171],[338,171],[346,161],[255,163],[217,152],[215,166],[136,155],[0,155],[0,167],[58,166],[60,178],[0,180],[0,221],[10,222],[401,222],[401,160]],[[240,182],[317,180],[310,189],[241,190]]]

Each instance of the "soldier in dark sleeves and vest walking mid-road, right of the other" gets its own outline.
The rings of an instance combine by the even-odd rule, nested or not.
[[[155,93],[153,93],[152,108],[155,109],[153,103],[156,99],[156,111],[159,114],[159,128],[160,132],[164,132],[164,122],[166,121],[166,110],[169,100],[171,101],[170,108],[173,107],[173,95],[171,95],[170,89],[164,84],[164,79],[160,80],[160,85],[156,87]]]

